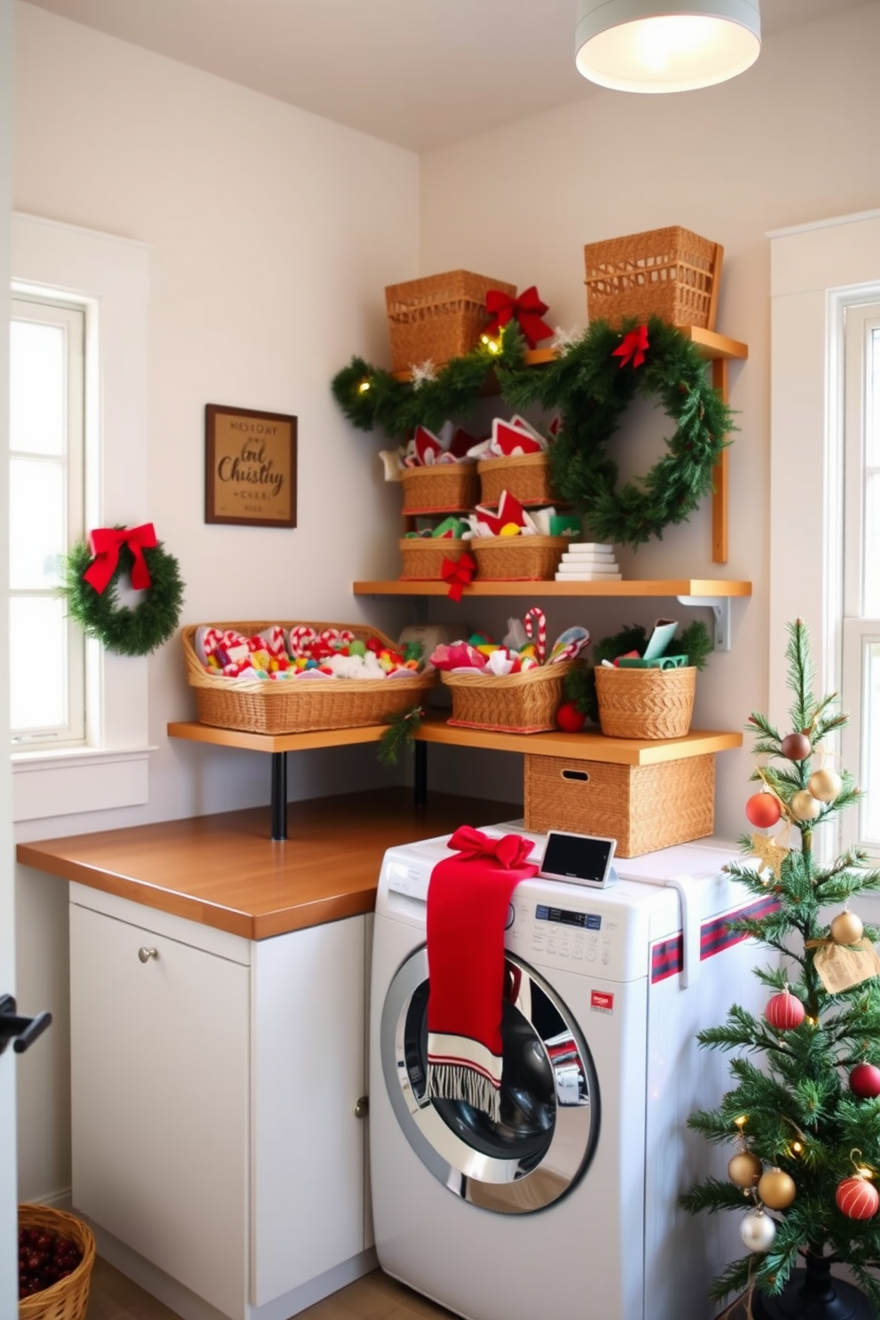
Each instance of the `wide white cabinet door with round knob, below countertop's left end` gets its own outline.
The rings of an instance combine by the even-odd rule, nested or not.
[[[241,1316],[249,969],[71,906],[70,978],[74,1205]]]

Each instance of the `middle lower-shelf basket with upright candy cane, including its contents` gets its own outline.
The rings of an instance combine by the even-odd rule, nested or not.
[[[546,618],[533,606],[508,620],[500,643],[478,632],[435,647],[430,663],[453,697],[449,723],[512,734],[554,729],[565,678],[588,644],[588,631],[573,627],[548,649]]]

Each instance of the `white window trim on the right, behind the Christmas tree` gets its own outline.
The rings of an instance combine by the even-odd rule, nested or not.
[[[792,704],[790,619],[802,618],[813,638],[817,693],[840,692],[844,680],[846,317],[880,290],[880,210],[777,230],[769,239],[769,709],[782,721]],[[844,764],[858,776],[858,763]],[[822,861],[842,846],[850,814],[840,813],[836,838],[817,834]]]

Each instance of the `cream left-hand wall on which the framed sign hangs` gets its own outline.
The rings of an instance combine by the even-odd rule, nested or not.
[[[418,158],[28,4],[16,28],[15,209],[152,244],[149,517],[179,560],[183,622],[396,631],[402,606],[355,601],[351,582],[397,572],[400,494],[330,380],[354,352],[387,352],[384,286],[418,273]],[[296,529],[204,524],[206,403],[298,417]],[[149,661],[149,804],[18,838],[268,804],[268,758],[166,738],[194,711],[172,642]],[[310,797],[388,772],[358,747],[292,756],[288,775]],[[55,1014],[50,1048],[18,1068],[22,1197],[70,1180],[66,888],[20,870],[18,994]]]

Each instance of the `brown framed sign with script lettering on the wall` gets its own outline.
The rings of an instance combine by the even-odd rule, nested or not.
[[[204,521],[297,525],[297,418],[204,405]]]

